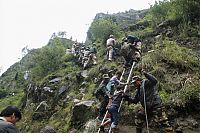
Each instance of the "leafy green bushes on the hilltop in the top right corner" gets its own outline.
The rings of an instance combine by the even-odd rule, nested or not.
[[[166,19],[180,20],[184,24],[200,21],[199,0],[163,0],[156,1],[150,8],[152,21],[160,23]]]

